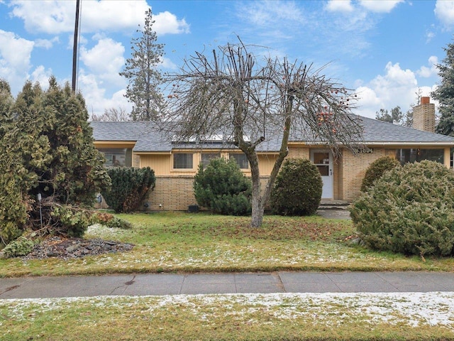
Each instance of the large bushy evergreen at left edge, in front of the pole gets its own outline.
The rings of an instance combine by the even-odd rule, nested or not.
[[[0,91],[0,244],[26,229],[82,235],[110,180],[84,99],[52,77],[46,92],[26,82],[8,102]]]

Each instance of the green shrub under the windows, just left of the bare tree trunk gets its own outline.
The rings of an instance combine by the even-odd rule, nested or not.
[[[197,204],[221,215],[248,215],[251,212],[252,184],[236,161],[212,159],[194,178]]]

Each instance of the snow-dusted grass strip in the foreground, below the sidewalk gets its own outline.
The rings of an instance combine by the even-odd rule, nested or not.
[[[294,293],[5,300],[0,328],[1,340],[11,341],[453,340],[454,307],[443,303],[453,299]]]

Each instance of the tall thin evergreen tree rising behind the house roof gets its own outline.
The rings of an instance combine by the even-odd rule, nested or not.
[[[157,69],[164,55],[164,45],[156,43],[157,35],[153,31],[153,23],[155,21],[149,9],[145,12],[143,31],[137,31],[141,36],[131,40],[131,58],[126,60],[125,69],[120,72],[129,82],[125,96],[133,103],[133,121],[156,119],[164,103],[159,90],[162,75]]]

